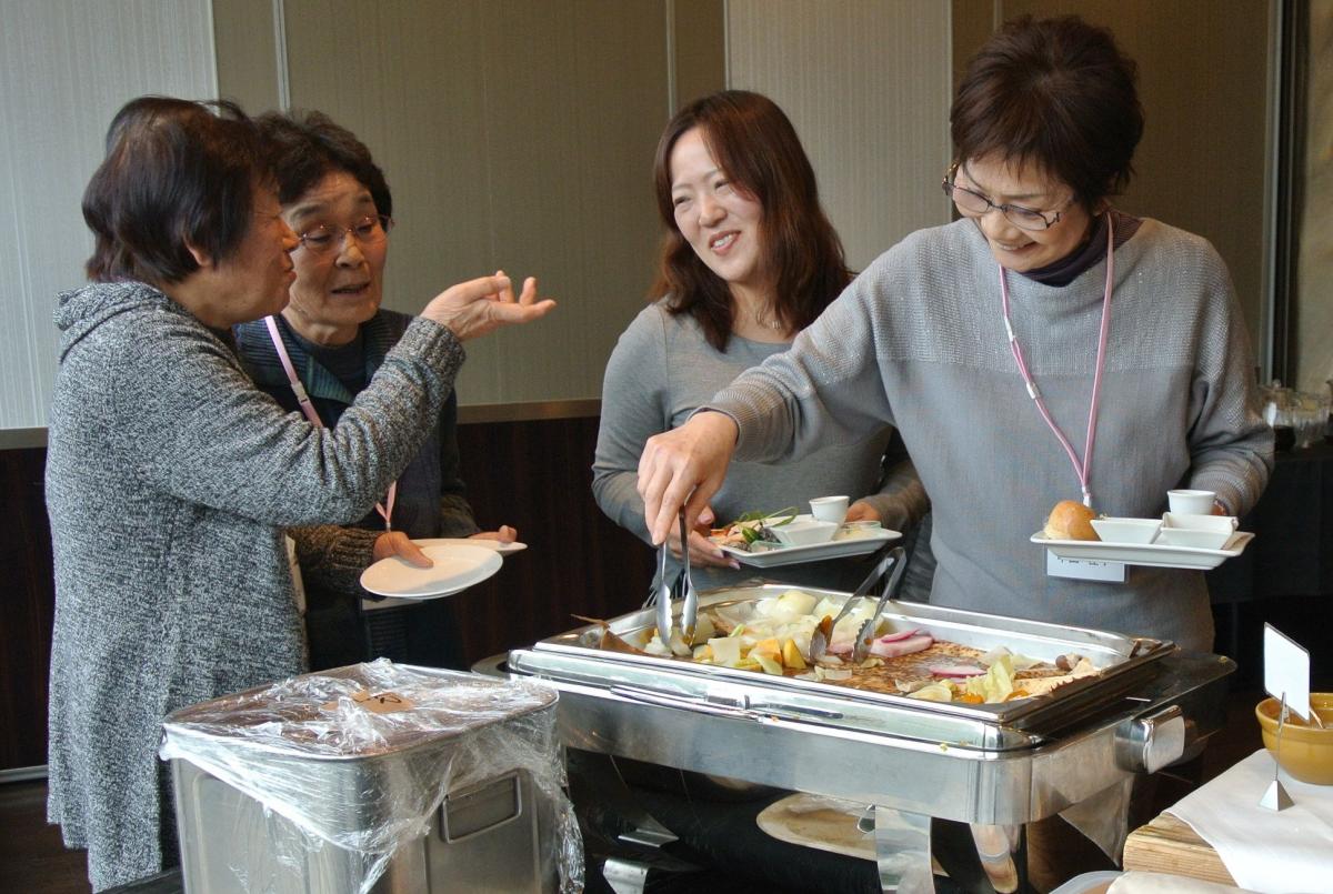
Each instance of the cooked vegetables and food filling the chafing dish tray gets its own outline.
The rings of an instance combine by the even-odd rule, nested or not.
[[[924,628],[892,630],[889,622],[876,632],[870,657],[853,665],[852,646],[861,624],[874,610],[873,600],[853,606],[832,630],[825,656],[812,666],[810,637],[821,624],[832,625],[841,608],[840,597],[817,598],[801,590],[712,606],[700,612],[693,648],[676,634],[663,645],[656,633],[645,632],[651,638],[643,650],[941,702],[994,703],[1042,695],[1098,673],[1090,661],[1076,654],[1048,662],[1002,646],[982,652],[938,640]]]

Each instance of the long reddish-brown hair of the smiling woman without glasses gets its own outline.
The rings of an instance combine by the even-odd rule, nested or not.
[[[726,349],[733,322],[726,282],[690,248],[672,205],[670,153],[694,128],[732,183],[764,209],[760,248],[776,285],[773,312],[786,326],[804,329],[846,288],[852,273],[820,205],[814,169],[796,128],[773,100],[748,91],[694,100],[672,117],[657,141],[653,184],[666,236],[652,297],[670,296],[672,313],[692,314],[708,342]]]

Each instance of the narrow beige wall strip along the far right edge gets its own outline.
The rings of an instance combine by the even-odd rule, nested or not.
[[[1333,378],[1333,4],[1310,4],[1305,195],[1300,220],[1296,360],[1301,390]]]

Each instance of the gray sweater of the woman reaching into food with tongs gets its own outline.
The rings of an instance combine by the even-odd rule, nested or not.
[[[1166,490],[1216,490],[1234,514],[1273,462],[1226,266],[1154,220],[1116,249],[1092,462],[1094,508],[1154,517]],[[1082,456],[1105,261],[1062,288],[1009,273],[1013,325],[1046,404]],[[712,402],[740,425],[736,458],[781,461],[894,424],[930,494],[932,602],[1210,649],[1201,572],[1130,568],[1125,584],[1046,577],[1029,537],[1078,480],[1009,353],[998,268],[968,220],[889,249],[790,352]]]

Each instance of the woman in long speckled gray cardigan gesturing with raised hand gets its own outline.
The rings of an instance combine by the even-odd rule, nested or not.
[[[253,121],[128,103],[83,212],[92,282],[55,313],[47,815],[103,890],[177,862],[163,717],[304,669],[283,528],[360,518],[429,434],[460,342],[552,304],[503,277],[447,289],[356,406],[315,426],[256,390],[228,337],[295,278]]]

